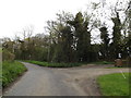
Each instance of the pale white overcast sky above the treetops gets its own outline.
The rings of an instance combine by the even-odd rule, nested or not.
[[[44,33],[46,22],[53,20],[56,13],[68,11],[75,14],[78,11],[85,11],[91,1],[104,0],[1,0],[0,38],[13,37],[28,25],[34,25],[35,34]]]

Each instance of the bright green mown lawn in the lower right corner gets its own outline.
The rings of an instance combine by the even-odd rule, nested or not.
[[[103,96],[129,96],[129,77],[131,73],[102,75],[97,78]]]

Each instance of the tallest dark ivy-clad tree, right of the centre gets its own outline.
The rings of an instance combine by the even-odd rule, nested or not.
[[[78,62],[90,62],[91,61],[91,33],[88,29],[88,21],[84,19],[81,12],[76,13],[75,19],[69,22],[74,30],[74,41],[76,45],[76,61]]]

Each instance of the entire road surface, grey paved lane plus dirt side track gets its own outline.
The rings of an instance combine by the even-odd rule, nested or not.
[[[28,71],[3,93],[4,96],[100,96],[96,77],[120,72],[105,69],[108,65],[52,69],[23,63]]]

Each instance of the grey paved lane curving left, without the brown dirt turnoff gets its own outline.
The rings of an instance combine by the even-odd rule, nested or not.
[[[86,96],[84,90],[64,82],[67,75],[57,69],[23,63],[28,71],[3,96]]]

